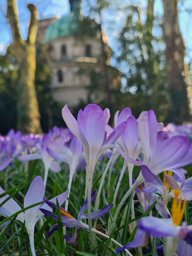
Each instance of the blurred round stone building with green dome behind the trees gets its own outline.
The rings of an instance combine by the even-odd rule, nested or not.
[[[44,35],[50,59],[52,96],[69,107],[82,101],[110,101],[110,90],[121,77],[117,79],[118,70],[110,66],[106,36],[94,20],[80,15],[79,0],[69,3],[69,15],[41,20],[39,26],[37,40]]]

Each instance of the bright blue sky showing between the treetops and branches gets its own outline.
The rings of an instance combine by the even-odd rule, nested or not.
[[[92,0],[93,2],[94,0]],[[119,0],[120,1],[120,0]],[[52,17],[55,15],[67,15],[69,13],[69,3],[68,0],[18,0],[18,8],[20,15],[20,30],[23,38],[25,39],[28,31],[28,24],[30,19],[30,13],[27,9],[28,3],[34,3],[39,11],[39,19]],[[115,1],[116,3],[118,2]],[[121,7],[124,4],[127,4],[127,0],[120,1]],[[94,2],[93,2],[94,3]],[[138,3],[142,4],[144,8],[147,6],[147,0],[138,0]],[[84,10],[84,14],[86,13],[86,5],[84,1],[82,3],[82,8]],[[104,17],[103,29],[108,36],[108,44],[115,50],[114,39],[118,38],[118,32],[123,25],[123,21],[126,18],[124,12],[118,11],[118,15],[115,15],[114,10],[115,6],[112,6],[113,10],[103,11],[102,15]],[[184,40],[186,42],[186,48],[188,52],[188,56],[186,60],[192,58],[192,27],[190,24],[192,23],[192,1],[191,0],[181,0],[179,4],[180,14],[180,29]],[[1,0],[0,3],[0,53],[5,52],[6,45],[12,42],[11,29],[9,24],[5,18],[6,14],[6,0]],[[161,0],[155,0],[154,7],[155,15],[163,15],[163,6]],[[107,17],[107,19],[105,19]],[[115,29],[109,29],[109,21],[115,22]]]

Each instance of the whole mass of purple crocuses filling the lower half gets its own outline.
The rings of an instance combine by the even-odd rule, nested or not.
[[[60,212],[62,225],[76,228],[72,237],[64,233],[64,238],[68,243],[75,242],[78,228],[89,230],[92,251],[95,245],[93,232],[99,232],[92,228],[92,220],[100,218],[112,210],[114,216],[108,220],[108,235],[110,235],[116,229],[116,220],[120,210],[132,193],[133,197],[129,204],[131,216],[128,218],[132,219],[133,228],[136,229],[134,205],[137,203],[140,203],[143,212],[149,211],[150,206],[156,203],[158,214],[156,213],[155,216],[160,215],[161,218],[152,216],[153,212],[150,211],[149,216],[141,218],[138,222],[133,241],[123,246],[113,239],[112,241],[120,246],[116,253],[138,247],[138,254],[142,255],[139,246],[148,233],[150,236],[166,239],[165,244],[157,243],[157,255],[174,256],[176,251],[179,256],[192,255],[192,226],[185,221],[182,222],[186,202],[192,200],[192,177],[186,179],[187,171],[183,168],[192,163],[192,149],[188,139],[188,137],[190,138],[190,125],[187,127],[174,126],[173,132],[172,124],[164,128],[162,123],[157,122],[153,110],[143,111],[136,119],[130,108],[124,108],[121,112],[116,112],[112,128],[108,124],[109,109],[102,110],[95,104],[89,104],[84,110],[79,110],[77,120],[65,105],[62,109],[62,116],[68,128],[53,127],[48,134],[28,134],[24,137],[20,132],[15,133],[11,130],[7,136],[0,137],[0,159],[2,162],[0,171],[5,169],[15,157],[19,161],[23,161],[24,166],[29,161],[36,159],[41,159],[44,164],[44,180],[37,176],[31,182],[25,196],[24,208],[39,204],[17,215],[17,220],[25,222],[33,256],[35,255],[34,228],[36,222],[44,214],[52,215],[52,219],[58,221],[57,213]],[[120,173],[116,173],[119,180],[114,191],[110,191],[112,170],[118,158],[123,158],[122,170]],[[106,159],[108,162],[105,166]],[[69,176],[68,187],[61,188],[63,191],[67,190],[57,196],[59,205],[65,202],[65,207],[58,209],[56,197],[47,201],[44,198],[44,193],[49,178],[49,169],[55,173],[60,172],[62,162],[67,164]],[[96,189],[92,191],[92,181],[95,178],[94,173],[98,162],[100,162],[98,166],[102,167],[100,168],[102,179],[100,183],[96,184],[98,193],[93,211],[92,204]],[[133,169],[134,165],[137,166],[137,173]],[[85,202],[75,218],[73,217],[75,215],[68,211],[70,200],[67,197],[70,198],[73,180],[80,173],[77,174],[77,169],[85,173],[83,181]],[[106,185],[108,169],[108,184]],[[126,192],[121,195],[120,200],[117,200],[126,169],[128,169]],[[103,188],[107,188],[107,190]],[[3,188],[0,190],[1,194],[5,192]],[[101,191],[106,200],[102,205],[104,207],[100,207]],[[0,204],[7,198],[8,195],[0,198]],[[108,199],[113,204],[108,204]],[[21,211],[21,207],[13,198],[6,200],[0,207],[0,213],[6,216],[12,216],[19,211]],[[87,213],[84,213],[85,211]],[[126,211],[123,211],[122,214],[121,224],[123,225],[124,218],[127,218]],[[88,220],[88,225],[82,221],[83,219]],[[56,230],[58,230],[58,223],[52,226],[48,236],[51,236]],[[101,233],[100,235],[109,238],[107,234]],[[121,231],[119,236],[122,238]],[[123,240],[126,241],[126,239]],[[188,254],[185,253],[186,248]],[[132,255],[128,251],[127,253]]]

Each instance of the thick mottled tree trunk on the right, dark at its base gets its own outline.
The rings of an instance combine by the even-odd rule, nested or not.
[[[169,122],[190,121],[187,84],[185,83],[185,45],[180,33],[178,0],[163,0],[164,39],[167,45],[168,88],[170,92]],[[186,74],[187,75],[187,74]]]

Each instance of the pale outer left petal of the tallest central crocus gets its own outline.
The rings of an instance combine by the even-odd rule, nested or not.
[[[71,130],[71,132],[73,132],[77,136],[77,138],[82,142],[84,147],[88,148],[88,142],[85,139],[83,132],[79,128],[79,125],[78,125],[75,117],[71,114],[67,105],[65,105],[65,107],[62,108],[62,116],[63,116],[63,119],[64,119],[65,123],[67,124],[68,128]]]

